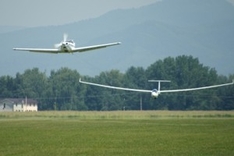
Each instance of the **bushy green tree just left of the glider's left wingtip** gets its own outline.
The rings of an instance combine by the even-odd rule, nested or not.
[[[80,74],[76,70],[61,68],[51,71],[48,93],[51,108],[60,110],[87,110],[84,104],[84,87],[79,84]]]

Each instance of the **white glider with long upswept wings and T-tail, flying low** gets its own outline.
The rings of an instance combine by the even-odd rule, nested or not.
[[[222,86],[228,86],[233,85],[234,80],[231,83],[224,83],[219,85],[212,85],[212,86],[205,86],[205,87],[198,87],[198,88],[187,88],[187,89],[175,89],[175,90],[160,90],[161,82],[171,82],[169,80],[149,80],[149,82],[158,82],[158,89],[153,90],[144,90],[144,89],[131,89],[131,88],[123,88],[123,87],[114,87],[114,86],[108,86],[108,85],[102,85],[97,83],[91,83],[91,82],[85,82],[81,81],[81,78],[79,79],[80,83],[93,85],[93,86],[99,86],[104,88],[111,88],[111,89],[118,89],[118,90],[126,90],[126,91],[134,91],[134,92],[145,92],[145,93],[151,93],[151,96],[153,98],[157,98],[160,93],[171,93],[171,92],[186,92],[186,91],[194,91],[194,90],[202,90],[202,89],[209,89],[209,88],[216,88],[216,87],[222,87]]]

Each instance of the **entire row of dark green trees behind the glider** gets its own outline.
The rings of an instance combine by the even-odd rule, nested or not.
[[[130,67],[82,76],[76,70],[60,68],[47,76],[38,68],[27,69],[15,77],[0,77],[0,98],[32,98],[39,110],[233,110],[234,85],[202,91],[165,93],[154,100],[147,93],[112,90],[79,83],[79,78],[106,85],[154,89],[148,79],[166,79],[161,90],[193,88],[231,82],[234,74],[218,75],[214,68],[192,56],[167,57],[146,69]]]

